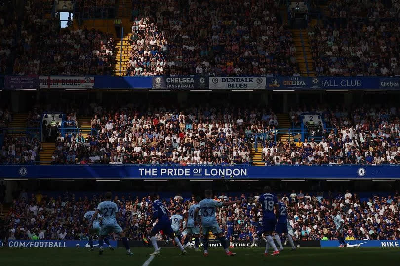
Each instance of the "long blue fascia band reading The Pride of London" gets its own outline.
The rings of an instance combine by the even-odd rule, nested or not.
[[[0,178],[400,179],[399,166],[2,165]]]

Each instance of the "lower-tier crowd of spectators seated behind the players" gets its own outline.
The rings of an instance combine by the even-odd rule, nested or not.
[[[288,206],[289,223],[300,240],[335,240],[335,210],[340,211],[344,219],[346,240],[400,240],[398,191],[362,199],[348,190],[346,193],[314,194],[293,190],[282,196]],[[240,205],[222,207],[216,212],[218,223],[230,240],[252,240],[252,233],[260,227],[256,218],[262,222],[262,210],[255,210],[258,197],[257,193],[215,196],[220,201],[241,200]],[[180,209],[186,217],[194,198],[194,195],[183,198],[178,194],[161,200],[171,214]],[[87,239],[88,228],[83,215],[103,200],[102,194],[76,197],[66,192],[50,197],[38,192],[28,197],[23,191],[6,214],[12,224],[10,239]],[[150,196],[115,196],[114,202],[119,207],[118,223],[125,229],[127,237],[130,240],[148,239],[152,228]],[[162,240],[160,234],[157,237]]]

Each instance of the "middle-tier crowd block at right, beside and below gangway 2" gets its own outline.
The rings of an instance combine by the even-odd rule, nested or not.
[[[290,110],[299,121],[306,108]],[[303,141],[282,142],[267,135],[262,158],[265,165],[397,165],[400,164],[400,109],[390,106],[316,108],[325,128]],[[332,128],[327,130],[327,128]]]

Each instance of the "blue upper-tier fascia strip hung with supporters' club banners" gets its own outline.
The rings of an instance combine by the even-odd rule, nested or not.
[[[3,76],[0,77],[0,88],[5,78],[6,89],[37,89],[37,76]],[[47,79],[57,79],[50,76]],[[66,77],[64,77],[66,79]],[[67,78],[68,79],[68,78]],[[94,79],[94,84],[92,84]],[[70,77],[68,80],[79,81],[89,89],[131,90],[131,89],[210,89],[210,90],[400,90],[400,77],[301,77],[301,76],[90,76]],[[87,81],[88,80],[88,81]],[[54,85],[42,80],[42,88],[53,88]],[[89,82],[90,81],[90,82]],[[76,84],[66,84],[60,89],[74,89]],[[56,88],[56,87],[54,87]]]

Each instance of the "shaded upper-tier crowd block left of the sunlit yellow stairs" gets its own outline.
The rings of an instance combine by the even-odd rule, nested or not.
[[[115,42],[111,33],[86,27],[60,30],[46,18],[50,1],[27,1],[14,61],[15,75],[111,75]]]

